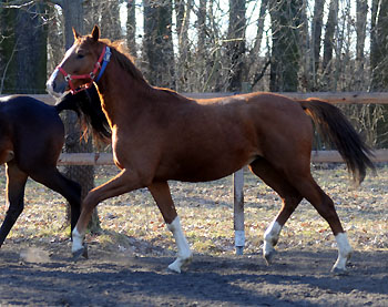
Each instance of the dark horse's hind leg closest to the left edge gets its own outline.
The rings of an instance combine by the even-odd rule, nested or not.
[[[9,209],[0,228],[0,247],[24,208],[24,187],[28,175],[14,162],[7,163],[7,198]]]

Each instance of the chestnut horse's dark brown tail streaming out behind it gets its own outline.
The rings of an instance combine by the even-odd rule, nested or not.
[[[372,155],[370,149],[361,141],[350,122],[338,108],[325,101],[307,99],[298,102],[313,119],[325,141],[337,147],[353,173],[354,181],[360,184],[367,167],[375,170],[375,166],[369,158]]]

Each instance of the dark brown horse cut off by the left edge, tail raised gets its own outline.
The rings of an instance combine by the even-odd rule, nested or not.
[[[96,103],[93,108],[92,103]],[[64,127],[59,116],[63,110],[74,110],[99,139],[110,139],[94,88],[76,95],[67,95],[55,106],[30,96],[0,99],[0,164],[7,166],[9,209],[0,228],[0,246],[24,207],[28,177],[60,193],[71,206],[71,229],[80,216],[81,186],[57,170],[64,142]],[[90,111],[91,110],[91,111]]]

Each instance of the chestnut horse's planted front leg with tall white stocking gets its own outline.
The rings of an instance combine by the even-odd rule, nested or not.
[[[186,237],[183,234],[180,217],[176,214],[174,202],[171,197],[167,182],[157,182],[149,186],[149,190],[154,197],[159,209],[161,211],[169,229],[173,233],[177,246],[177,258],[169,265],[171,270],[181,273],[181,267],[190,264],[193,258],[193,253],[190,250]]]

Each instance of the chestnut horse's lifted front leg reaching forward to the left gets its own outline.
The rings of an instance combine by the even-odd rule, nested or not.
[[[140,180],[140,176],[135,172],[123,170],[109,182],[93,188],[88,193],[86,197],[82,202],[80,218],[72,232],[72,254],[74,258],[78,258],[81,255],[86,257],[88,255],[83,245],[83,239],[95,206],[106,198],[144,187],[145,185],[142,184],[142,182],[143,181]]]

